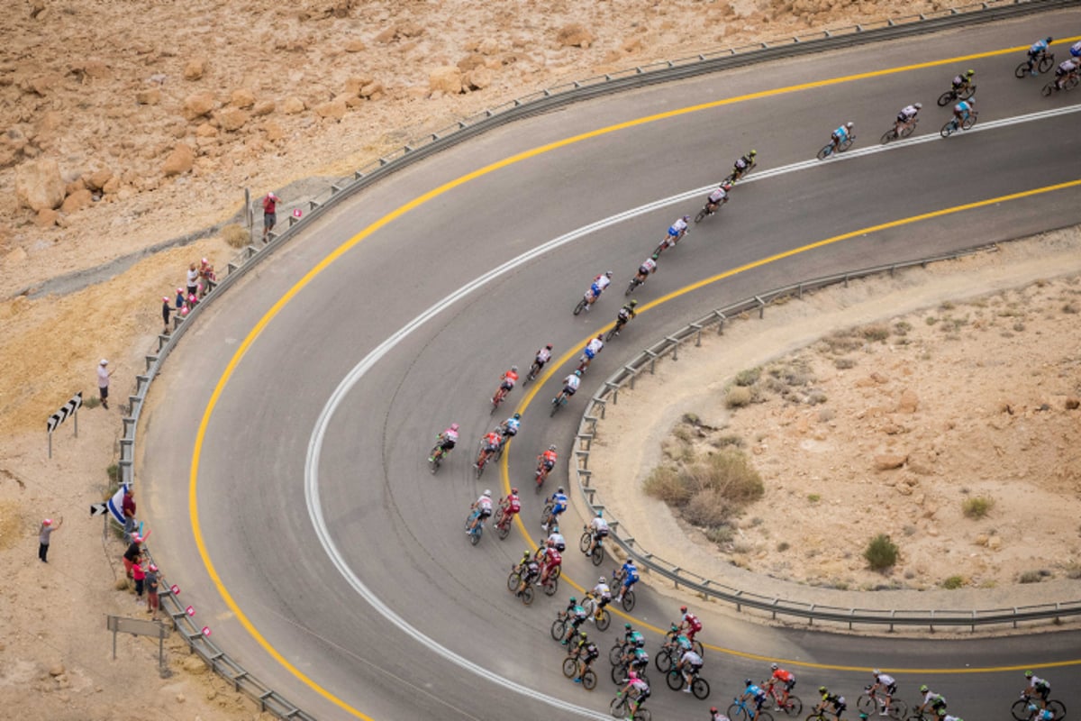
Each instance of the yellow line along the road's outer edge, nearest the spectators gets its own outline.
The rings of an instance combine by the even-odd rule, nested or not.
[[[1068,42],[1072,42],[1075,40],[1076,40],[1076,38],[1068,38],[1066,40],[1060,40],[1059,43],[1068,43]],[[524,161],[524,160],[529,160],[530,158],[534,158],[534,157],[540,156],[540,155],[543,155],[545,152],[549,152],[551,150],[557,150],[559,148],[563,148],[563,147],[573,145],[575,143],[580,143],[583,141],[588,141],[588,139],[591,139],[591,138],[595,138],[595,137],[600,137],[602,135],[608,135],[610,133],[615,133],[615,132],[618,132],[618,131],[622,131],[622,130],[627,130],[629,128],[636,128],[638,125],[644,125],[644,124],[648,124],[648,123],[657,122],[657,121],[660,121],[660,120],[666,120],[668,118],[675,118],[675,117],[678,117],[678,116],[689,115],[691,112],[698,112],[700,110],[708,110],[710,108],[721,107],[721,106],[724,106],[724,105],[733,105],[733,104],[736,104],[736,103],[744,103],[744,102],[747,102],[747,101],[758,99],[758,98],[762,98],[762,97],[770,97],[770,96],[774,96],[774,95],[783,95],[783,94],[787,94],[787,93],[795,93],[795,92],[799,92],[799,91],[803,91],[803,90],[811,90],[811,89],[814,89],[814,88],[823,88],[823,86],[827,86],[827,85],[836,85],[836,84],[841,84],[841,83],[845,83],[845,82],[853,82],[853,81],[856,81],[856,80],[866,80],[868,78],[877,78],[877,77],[882,77],[882,76],[886,76],[886,75],[894,75],[894,74],[899,74],[899,72],[908,72],[908,71],[911,71],[911,70],[919,70],[919,69],[929,68],[929,67],[938,67],[938,66],[949,65],[949,64],[953,64],[953,63],[961,63],[961,62],[964,62],[964,61],[978,59],[978,58],[983,58],[983,57],[995,57],[995,56],[998,56],[998,55],[1006,55],[1009,53],[1020,52],[1020,51],[1024,51],[1024,50],[1026,50],[1024,46],[1006,48],[1006,49],[1003,49],[1003,50],[997,50],[997,51],[991,51],[991,52],[986,52],[986,53],[976,53],[976,54],[973,54],[973,55],[962,55],[962,56],[950,57],[950,58],[946,58],[946,59],[931,61],[931,62],[927,62],[927,63],[919,63],[919,64],[916,64],[916,65],[907,65],[907,66],[902,66],[902,67],[896,67],[896,68],[888,68],[888,69],[883,69],[883,70],[873,70],[873,71],[870,71],[870,72],[860,72],[860,74],[856,74],[856,75],[849,75],[849,76],[843,76],[843,77],[839,77],[839,78],[830,78],[830,79],[827,79],[827,80],[819,80],[819,81],[809,82],[809,83],[802,83],[802,84],[798,84],[798,85],[790,85],[790,86],[787,86],[787,88],[777,88],[777,89],[774,89],[774,90],[761,91],[761,92],[757,92],[757,93],[749,93],[749,94],[746,94],[746,95],[739,95],[739,96],[736,96],[736,97],[723,98],[723,99],[713,101],[713,102],[710,102],[710,103],[703,103],[703,104],[699,104],[699,105],[693,105],[693,106],[689,106],[689,107],[684,107],[684,108],[679,108],[679,109],[676,109],[676,110],[669,110],[669,111],[666,111],[666,112],[660,112],[660,114],[656,114],[656,115],[652,115],[652,116],[646,116],[646,117],[643,117],[643,118],[636,118],[635,120],[628,120],[626,122],[617,123],[617,124],[614,124],[614,125],[609,125],[606,128],[600,128],[598,130],[589,131],[587,133],[582,133],[582,134],[578,134],[578,135],[575,135],[575,136],[572,136],[572,137],[563,138],[561,141],[556,141],[556,142],[549,143],[547,145],[543,145],[543,146],[539,146],[539,147],[536,147],[536,148],[532,148],[530,150],[525,150],[525,151],[519,152],[519,153],[517,153],[515,156],[510,156],[509,158],[504,158],[503,160],[499,160],[499,161],[496,161],[496,162],[491,163],[489,165],[485,165],[484,168],[476,170],[476,171],[473,171],[471,173],[467,173],[465,175],[462,175],[461,177],[457,177],[457,178],[455,178],[453,181],[449,181],[448,183],[444,183],[443,185],[439,186],[438,188],[429,190],[428,192],[426,192],[426,193],[424,193],[424,195],[422,195],[422,196],[419,196],[417,198],[414,198],[410,202],[408,202],[408,203],[405,203],[403,205],[400,205],[399,208],[395,209],[393,211],[387,213],[386,215],[384,215],[383,217],[378,218],[377,221],[375,221],[374,223],[372,223],[371,225],[369,225],[368,227],[365,227],[363,230],[361,230],[360,232],[358,232],[357,235],[355,235],[352,238],[350,238],[349,240],[347,240],[346,242],[344,242],[342,245],[338,245],[326,257],[324,257],[322,261],[320,261],[311,270],[309,270],[307,273],[305,273],[305,276],[299,281],[297,281],[295,285],[293,285],[292,288],[290,288],[289,291],[286,291],[285,294],[282,295],[281,298],[279,298],[278,302],[275,303],[270,307],[269,310],[267,310],[266,315],[264,315],[263,318],[259,319],[259,321],[255,324],[255,326],[251,330],[251,332],[248,333],[248,335],[244,337],[243,342],[241,342],[240,346],[237,348],[237,351],[233,353],[232,358],[229,360],[228,364],[225,368],[225,371],[222,373],[222,376],[218,378],[217,384],[214,387],[214,391],[211,393],[210,401],[206,404],[206,409],[203,412],[202,419],[199,423],[199,429],[196,432],[195,448],[193,448],[192,453],[191,453],[191,467],[190,467],[190,473],[189,473],[189,480],[188,480],[188,512],[189,512],[190,518],[191,518],[191,533],[192,533],[192,536],[195,538],[196,548],[199,551],[199,557],[202,559],[203,566],[206,569],[206,573],[210,576],[211,582],[214,584],[214,587],[217,588],[217,591],[218,591],[218,593],[221,593],[222,599],[225,601],[226,606],[228,606],[228,609],[236,615],[237,619],[244,627],[244,629],[248,630],[249,633],[251,633],[252,638],[255,639],[255,641],[261,646],[263,646],[263,649],[268,654],[270,654],[270,656],[275,660],[277,660],[278,663],[280,663],[285,669],[288,669],[291,673],[293,673],[293,676],[295,676],[297,679],[299,679],[303,683],[305,683],[307,686],[309,686],[312,691],[315,691],[316,693],[318,693],[322,697],[326,698],[331,703],[335,704],[336,706],[338,706],[343,710],[348,711],[349,713],[351,713],[352,716],[355,716],[357,718],[364,719],[365,721],[371,721],[370,717],[365,716],[363,712],[361,712],[361,711],[352,708],[351,706],[349,706],[348,704],[346,704],[342,699],[337,698],[336,696],[334,696],[333,694],[331,694],[329,691],[326,691],[325,689],[323,689],[322,686],[320,686],[319,684],[317,684],[315,681],[312,681],[311,679],[309,679],[307,676],[305,676],[295,666],[293,666],[292,664],[290,664],[289,660],[286,660],[277,650],[275,650],[273,646],[270,645],[270,643],[265,638],[263,638],[263,636],[258,632],[258,630],[255,628],[255,626],[248,619],[248,616],[243,613],[243,611],[241,611],[240,606],[237,605],[237,602],[232,599],[232,596],[229,593],[228,589],[226,589],[225,584],[222,582],[222,577],[218,575],[216,569],[214,568],[213,562],[210,559],[210,553],[208,552],[205,542],[203,540],[202,528],[200,526],[200,523],[199,523],[199,505],[198,505],[199,459],[200,459],[200,457],[202,455],[202,445],[203,445],[203,442],[204,442],[205,437],[206,437],[206,428],[210,425],[210,418],[211,418],[211,416],[214,413],[214,409],[216,408],[217,402],[221,399],[222,393],[224,392],[226,385],[229,383],[229,379],[232,377],[233,372],[236,371],[237,366],[240,364],[241,359],[243,359],[244,355],[246,355],[248,350],[252,347],[252,345],[255,343],[255,341],[258,338],[258,336],[263,333],[264,329],[266,329],[266,326],[270,323],[271,320],[273,320],[278,316],[279,312],[281,312],[282,308],[284,308],[286,304],[289,304],[294,297],[296,297],[296,295],[305,286],[307,286],[308,283],[310,283],[319,273],[321,273],[323,270],[325,270],[328,267],[330,267],[331,264],[333,264],[339,257],[342,257],[343,255],[345,255],[349,250],[351,250],[358,243],[360,243],[361,241],[363,241],[365,238],[372,236],[377,230],[386,227],[391,222],[400,218],[401,216],[405,215],[410,211],[415,210],[416,208],[419,208],[421,205],[427,203],[428,201],[430,201],[430,200],[432,200],[435,198],[438,198],[438,197],[440,197],[440,196],[442,196],[442,195],[444,195],[444,193],[453,190],[454,188],[463,186],[466,183],[469,183],[470,181],[475,181],[475,179],[477,179],[479,177],[483,177],[485,175],[489,175],[490,173],[493,173],[493,172],[495,172],[497,170],[501,170],[503,168],[507,168],[507,166],[513,165],[513,164],[516,164],[518,162],[521,162],[521,161]],[[777,257],[783,257],[783,256],[777,256]],[[650,304],[646,307],[653,307],[658,302],[654,302],[653,304]],[[545,376],[545,377],[548,377],[548,376]],[[535,389],[534,389],[534,392],[535,392]],[[521,523],[521,520],[519,520],[519,524],[520,523]],[[522,528],[522,531],[524,533],[524,528],[523,526],[520,526],[520,528]],[[526,534],[526,537],[529,537],[528,534]]]

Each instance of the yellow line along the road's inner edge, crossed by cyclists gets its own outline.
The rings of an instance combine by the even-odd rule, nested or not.
[[[998,196],[997,198],[987,198],[985,200],[977,200],[975,202],[964,203],[963,205],[955,205],[953,208],[945,208],[943,210],[932,211],[930,213],[921,213],[920,215],[913,215],[911,217],[900,218],[900,219],[897,219],[897,221],[890,221],[888,223],[880,223],[878,225],[872,225],[872,226],[869,226],[869,227],[866,227],[866,228],[860,228],[858,230],[852,230],[850,232],[844,232],[844,233],[841,233],[839,236],[833,236],[832,238],[826,238],[825,240],[819,240],[817,242],[809,243],[809,244],[802,245],[800,248],[795,248],[792,250],[785,251],[783,253],[777,253],[776,255],[771,255],[769,257],[761,258],[759,261],[753,261],[751,263],[747,263],[747,264],[742,265],[742,266],[739,266],[737,268],[732,268],[731,270],[725,270],[724,272],[717,273],[716,276],[711,276],[709,278],[704,278],[703,280],[696,281],[696,282],[691,283],[689,285],[684,285],[683,288],[675,290],[671,293],[668,293],[666,295],[663,295],[663,296],[660,296],[659,298],[657,298],[655,301],[651,301],[650,303],[646,303],[645,305],[643,305],[641,307],[641,309],[638,312],[640,312],[640,313],[641,312],[645,312],[646,310],[650,310],[652,308],[656,308],[657,306],[659,306],[659,305],[662,305],[664,303],[668,303],[669,301],[672,301],[672,299],[678,298],[680,296],[686,295],[688,293],[692,293],[694,291],[700,290],[700,289],[705,288],[706,285],[710,285],[710,284],[716,283],[716,282],[718,282],[720,280],[724,280],[726,278],[732,278],[733,276],[737,276],[737,275],[739,275],[742,272],[746,272],[748,270],[752,270],[755,268],[759,268],[761,266],[768,265],[770,263],[774,263],[776,261],[780,261],[783,258],[791,257],[793,255],[799,255],[801,253],[806,253],[808,251],[813,251],[813,250],[816,250],[818,248],[824,248],[826,245],[831,245],[832,243],[838,243],[838,242],[841,242],[842,240],[849,240],[849,239],[852,239],[852,238],[860,238],[860,237],[868,236],[868,235],[873,233],[873,232],[880,232],[882,230],[889,230],[891,228],[899,228],[902,226],[912,225],[915,223],[920,223],[920,222],[923,222],[923,221],[930,221],[932,218],[943,217],[945,215],[953,215],[956,213],[961,213],[961,212],[964,212],[964,211],[975,210],[975,209],[978,209],[978,208],[985,208],[987,205],[995,205],[995,204],[998,204],[998,203],[1004,203],[1004,202],[1007,202],[1007,201],[1011,201],[1011,200],[1019,200],[1022,198],[1030,198],[1032,196],[1039,196],[1039,195],[1043,195],[1043,193],[1046,193],[1046,192],[1054,192],[1056,190],[1064,190],[1064,189],[1067,189],[1067,188],[1075,188],[1075,187],[1078,187],[1078,186],[1081,186],[1081,179],[1068,181],[1066,183],[1057,183],[1055,185],[1047,185],[1047,186],[1044,186],[1042,188],[1033,188],[1031,190],[1022,190],[1019,192],[1012,192],[1012,193],[1005,195],[1005,196]],[[615,325],[614,321],[611,322],[611,323],[609,323],[608,325],[604,325],[601,329],[601,332],[606,332],[613,325]],[[529,392],[525,393],[525,397],[522,398],[521,403],[519,403],[518,408],[516,408],[515,411],[517,411],[518,413],[525,413],[525,409],[529,408],[530,403],[533,402],[533,399],[536,397],[537,392],[539,391],[540,386],[544,385],[547,380],[549,380],[557,373],[558,369],[562,368],[571,359],[573,359],[576,353],[580,352],[582,349],[585,347],[585,345],[587,343],[589,343],[589,341],[591,341],[592,338],[593,338],[593,334],[590,334],[588,337],[579,341],[576,345],[572,346],[571,349],[568,350],[565,353],[563,353],[558,361],[556,361],[555,363],[549,363],[548,365],[550,368],[548,368],[548,370],[545,371],[544,374],[537,378],[537,380],[535,382],[536,385],[534,385],[534,387],[533,387],[532,390],[530,390]],[[509,466],[508,466],[508,464],[510,463],[510,445],[511,445],[511,443],[508,442],[507,443],[507,452],[503,454],[503,458],[499,462],[499,470],[503,473],[503,488],[504,488],[504,493],[505,494],[509,493],[509,491],[510,491],[510,473],[509,473]],[[573,453],[573,449],[572,449],[572,453]],[[525,536],[526,543],[530,545],[531,548],[533,548],[535,550],[536,546],[533,544],[533,540],[530,538],[529,532],[525,531],[525,524],[522,522],[521,513],[519,513],[516,517],[516,520],[518,521],[518,528],[519,528],[519,530],[521,530],[522,534]],[[573,579],[571,579],[571,578],[569,578],[569,577],[566,577],[564,575],[560,575],[560,582],[569,584],[570,586],[572,586],[578,592],[585,592],[586,591],[586,589],[584,587],[582,587],[580,585],[578,585],[577,583],[575,583]],[[648,623],[645,623],[645,622],[643,622],[643,620],[641,620],[639,618],[636,618],[633,616],[625,614],[623,611],[619,611],[618,609],[614,609],[613,607],[613,609],[611,609],[611,611],[615,615],[620,616],[622,618],[626,618],[628,620],[633,620],[636,624],[638,624],[638,626],[640,626],[642,628],[645,628],[648,630],[655,631],[655,632],[660,633],[660,635],[664,635],[664,633],[667,632],[667,629],[663,629],[663,628],[660,628],[658,626],[653,626],[652,624],[648,624]],[[705,647],[709,649],[711,651],[718,651],[718,652],[721,652],[721,653],[724,653],[724,654],[728,654],[728,655],[732,655],[732,656],[740,656],[740,657],[744,657],[744,658],[752,658],[752,659],[756,659],[756,660],[774,660],[773,658],[770,658],[768,656],[760,656],[760,655],[757,655],[757,654],[746,653],[746,652],[743,652],[743,651],[736,651],[736,650],[733,650],[733,649],[724,649],[722,646],[705,645]],[[804,667],[809,667],[809,668],[823,668],[823,669],[843,670],[843,671],[865,671],[865,670],[869,671],[869,670],[871,670],[870,667],[863,668],[863,667],[856,667],[856,666],[836,666],[836,665],[829,665],[829,664],[813,664],[813,663],[797,662],[797,660],[786,660],[784,663],[788,664],[788,665],[791,665],[791,666],[804,666]],[[991,671],[1010,671],[1010,670],[1026,669],[1026,668],[1052,668],[1052,667],[1055,667],[1055,666],[1073,666],[1073,665],[1081,665],[1081,659],[1067,660],[1067,662],[1057,662],[1057,663],[1052,663],[1052,664],[1035,664],[1035,665],[1031,665],[1031,666],[1009,666],[1009,667],[1000,667],[1000,668],[978,668],[978,669],[977,668],[955,668],[955,669],[940,668],[940,669],[896,669],[896,670],[898,670],[898,671],[903,670],[903,671],[905,671],[907,673],[915,673],[915,672],[920,672],[920,673],[977,673],[977,672],[991,672]]]

